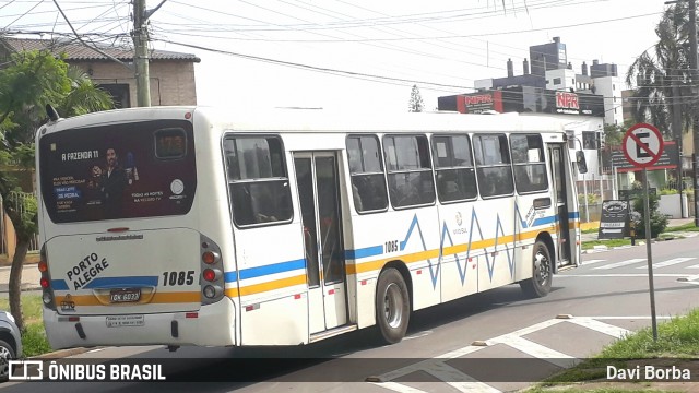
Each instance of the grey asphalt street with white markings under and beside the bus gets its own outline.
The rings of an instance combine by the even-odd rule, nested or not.
[[[645,250],[637,246],[585,254],[583,266],[554,278],[545,298],[525,299],[512,285],[415,312],[408,335],[391,346],[375,346],[370,332],[359,331],[283,349],[112,347],[76,357],[162,361],[170,370],[168,380],[178,383],[10,382],[0,390],[512,391],[650,326]],[[698,251],[692,239],[653,245],[659,323],[699,306]]]

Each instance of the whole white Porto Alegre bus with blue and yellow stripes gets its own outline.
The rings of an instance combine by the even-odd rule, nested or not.
[[[54,348],[297,345],[580,263],[561,126],[153,107],[36,136]]]

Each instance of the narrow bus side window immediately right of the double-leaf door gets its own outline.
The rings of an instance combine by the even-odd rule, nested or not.
[[[350,135],[347,158],[352,194],[357,212],[379,212],[389,206],[381,148],[376,135]]]

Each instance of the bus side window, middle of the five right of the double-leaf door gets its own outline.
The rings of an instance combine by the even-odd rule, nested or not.
[[[463,201],[478,195],[469,135],[433,136],[433,158],[440,202]]]

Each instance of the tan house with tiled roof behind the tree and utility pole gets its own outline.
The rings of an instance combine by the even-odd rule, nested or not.
[[[134,72],[103,55],[133,64],[133,48],[99,46],[100,53],[75,40],[0,37],[0,63],[7,62],[11,53],[24,50],[64,53],[67,63],[86,72],[111,94],[117,108],[137,104]],[[165,50],[151,50],[150,58],[151,105],[196,105],[194,63],[201,60],[194,55]]]

